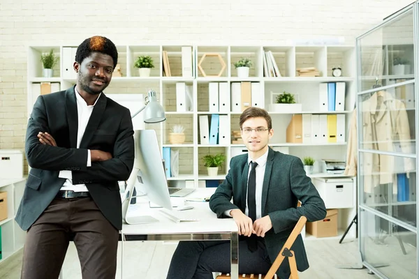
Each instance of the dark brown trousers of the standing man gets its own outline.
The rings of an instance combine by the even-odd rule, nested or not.
[[[83,279],[114,279],[118,230],[91,197],[56,198],[27,232],[22,279],[57,279],[68,242],[78,251]]]

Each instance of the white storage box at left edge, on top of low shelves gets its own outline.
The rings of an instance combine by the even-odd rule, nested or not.
[[[0,149],[0,179],[23,177],[23,153],[15,149]]]

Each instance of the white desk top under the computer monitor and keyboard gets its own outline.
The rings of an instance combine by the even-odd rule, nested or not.
[[[187,195],[185,199],[193,197],[210,197],[215,188],[198,188]],[[237,225],[233,218],[216,218],[211,211],[208,202],[185,202],[194,208],[186,211],[175,211],[184,216],[191,216],[200,219],[199,221],[174,223],[163,216],[160,209],[150,209],[148,202],[137,198],[137,204],[131,204],[128,209],[128,216],[150,215],[159,220],[159,223],[148,223],[138,225],[122,225],[122,234],[212,234],[219,232],[237,232]]]

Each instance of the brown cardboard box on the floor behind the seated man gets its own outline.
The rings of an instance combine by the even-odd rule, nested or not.
[[[316,237],[337,236],[337,209],[328,209],[323,220],[307,222],[306,232]]]

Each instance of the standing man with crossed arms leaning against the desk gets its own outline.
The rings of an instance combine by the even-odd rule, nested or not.
[[[83,278],[115,278],[118,181],[134,161],[130,112],[103,93],[117,61],[111,40],[87,38],[75,54],[77,84],[36,100],[25,144],[31,172],[16,216],[27,230],[22,279],[58,278],[71,240]]]

